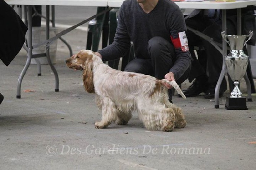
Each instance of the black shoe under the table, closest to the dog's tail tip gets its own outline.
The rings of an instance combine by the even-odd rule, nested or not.
[[[194,96],[198,96],[200,93],[205,93],[208,89],[208,83],[201,83],[198,80],[194,80],[194,82],[192,83],[192,85],[190,85],[190,87],[188,87],[188,89],[186,90],[182,90],[182,92],[184,93],[184,95],[186,97],[194,97]]]

